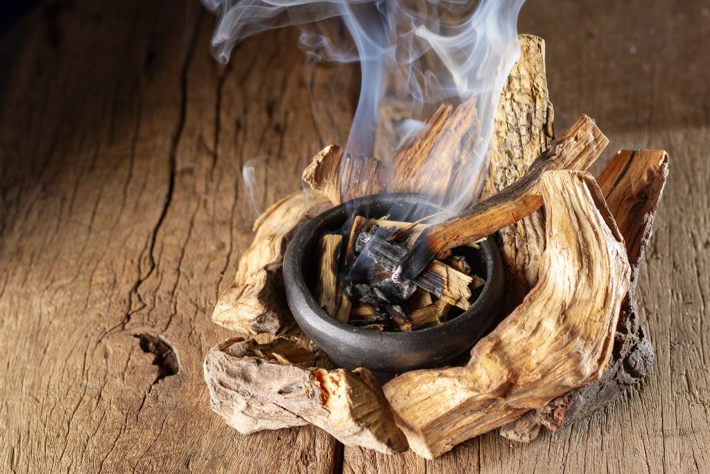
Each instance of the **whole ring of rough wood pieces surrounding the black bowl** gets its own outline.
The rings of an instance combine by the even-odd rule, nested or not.
[[[293,322],[281,263],[295,230],[323,210],[383,190],[440,195],[407,176],[433,151],[453,170],[466,149],[469,103],[442,106],[430,127],[398,151],[401,181],[385,183],[376,158],[329,146],[298,191],[256,222],[234,284],[213,321],[242,337],[209,351],[212,408],[241,433],[314,424],[348,446],[410,448],[435,458],[486,431],[532,441],[600,409],[650,370],[640,324],[638,267],[667,176],[665,151],[618,151],[596,179],[584,170],[606,137],[589,117],[553,139],[545,46],[521,36],[521,58],[501,95],[484,198],[469,212],[481,236],[497,231],[506,267],[503,319],[464,365],[416,370],[380,387],[371,372],[333,370]],[[338,173],[342,161],[346,173]],[[399,168],[398,168],[399,169]],[[449,173],[447,175],[447,173]],[[353,177],[359,179],[353,179]]]

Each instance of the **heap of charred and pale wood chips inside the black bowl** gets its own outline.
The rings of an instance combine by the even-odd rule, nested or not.
[[[452,257],[451,265],[435,262],[415,281],[398,283],[391,269],[407,249],[388,239],[405,239],[405,232],[368,228],[368,222],[354,215],[344,225],[346,237],[321,237],[315,295],[327,313],[360,328],[410,331],[446,321],[453,306],[469,308],[471,289],[484,281],[471,275],[465,257]],[[416,225],[398,222],[395,228]]]

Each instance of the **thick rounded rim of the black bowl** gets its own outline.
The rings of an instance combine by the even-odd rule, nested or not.
[[[484,260],[486,264],[486,282],[484,288],[476,298],[476,301],[471,303],[471,307],[459,314],[456,318],[446,321],[442,325],[433,326],[431,328],[417,329],[413,331],[377,331],[359,328],[355,325],[344,323],[337,320],[333,316],[330,316],[327,311],[325,311],[316,301],[310,289],[306,284],[303,275],[303,259],[305,258],[305,252],[299,252],[303,249],[307,242],[312,238],[312,234],[319,227],[332,220],[337,215],[341,214],[343,211],[347,212],[348,207],[354,207],[354,209],[371,206],[375,202],[383,203],[413,203],[413,204],[426,204],[432,206],[432,208],[441,208],[441,206],[432,203],[431,198],[426,195],[420,195],[415,193],[380,193],[374,195],[364,196],[362,198],[355,198],[349,200],[346,203],[335,206],[326,210],[320,215],[317,215],[305,225],[302,225],[300,230],[293,237],[291,242],[288,244],[286,249],[284,262],[283,262],[283,276],[285,281],[285,290],[288,296],[288,303],[291,307],[294,318],[300,323],[300,319],[305,319],[306,316],[301,316],[300,311],[297,308],[307,308],[310,312],[310,320],[307,323],[312,323],[312,325],[320,326],[320,330],[334,331],[332,333],[334,338],[339,336],[356,338],[354,342],[360,340],[363,343],[388,343],[397,342],[402,343],[422,343],[425,340],[430,340],[431,342],[438,341],[439,343],[446,343],[446,338],[444,336],[448,335],[451,331],[464,330],[471,325],[471,319],[482,319],[484,316],[488,319],[489,323],[485,328],[481,329],[481,333],[472,338],[473,343],[481,337],[482,333],[493,321],[496,315],[491,316],[490,311],[496,311],[493,306],[496,306],[500,298],[502,297],[503,289],[503,264],[501,261],[501,256],[498,253],[498,247],[491,236],[488,236],[486,240],[480,243],[479,252],[483,252]],[[498,271],[496,272],[496,267]],[[315,318],[312,318],[315,316]],[[484,321],[481,321],[482,323]]]

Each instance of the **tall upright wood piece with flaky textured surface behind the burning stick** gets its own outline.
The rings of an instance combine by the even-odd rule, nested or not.
[[[482,199],[522,178],[535,158],[550,148],[554,136],[554,112],[545,75],[545,41],[531,35],[519,38],[520,59],[510,70],[498,101]],[[541,210],[532,212],[499,230],[497,239],[506,268],[503,309],[508,314],[537,283],[545,249],[545,215]]]

